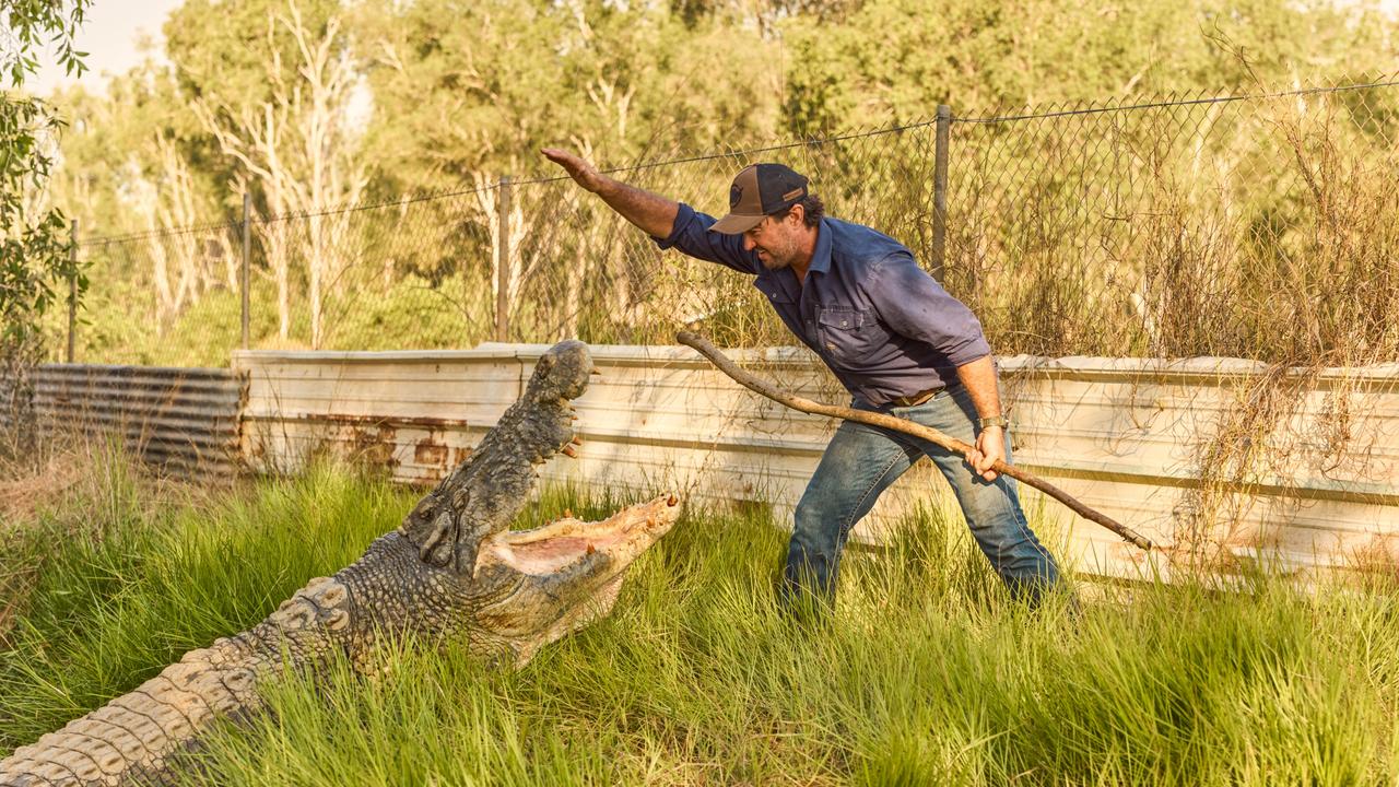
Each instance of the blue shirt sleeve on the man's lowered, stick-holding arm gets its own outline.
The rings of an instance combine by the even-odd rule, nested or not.
[[[894,332],[925,342],[963,365],[990,354],[981,321],[965,304],[943,290],[909,253],[884,258],[866,283],[879,315]]]

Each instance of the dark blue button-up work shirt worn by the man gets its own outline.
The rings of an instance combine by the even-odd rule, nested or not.
[[[681,203],[670,235],[653,239],[757,276],[753,286],[856,401],[883,406],[944,388],[957,381],[956,367],[990,354],[971,309],[888,235],[821,218],[803,286],[788,267],[764,267],[743,235],[711,232],[713,223]]]

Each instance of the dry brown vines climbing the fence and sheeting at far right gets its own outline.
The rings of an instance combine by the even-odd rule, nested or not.
[[[1207,265],[1182,266],[1193,276],[1172,287],[1178,305],[1164,312],[1186,326],[1213,326],[1167,354],[1267,364],[1221,379],[1220,413],[1198,430],[1205,483],[1177,548],[1207,563],[1276,541],[1266,527],[1244,525],[1256,485],[1377,480],[1371,452],[1357,441],[1381,434],[1372,409],[1385,386],[1365,377],[1399,358],[1399,160],[1392,150],[1361,153],[1372,116],[1342,97],[1274,98],[1260,120],[1290,158],[1276,176],[1291,178],[1294,197],[1265,202],[1266,210],[1258,207],[1266,195],[1244,202],[1241,211],[1254,216],[1247,234],[1198,255]],[[1238,221],[1219,228],[1242,230]]]

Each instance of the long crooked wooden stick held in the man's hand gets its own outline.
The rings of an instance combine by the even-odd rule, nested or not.
[[[936,429],[932,427],[926,427],[921,423],[914,423],[911,420],[888,416],[884,413],[869,413],[852,408],[825,405],[823,402],[813,402],[811,399],[803,399],[802,396],[795,396],[792,394],[788,394],[786,391],[776,388],[771,382],[739,368],[732,360],[729,360],[723,353],[720,353],[718,347],[711,344],[708,339],[700,336],[698,333],[681,330],[680,333],[676,335],[676,340],[679,340],[681,344],[700,350],[700,354],[709,358],[709,361],[713,363],[713,365],[719,367],[719,371],[732,377],[739,385],[743,385],[750,391],[761,394],[768,399],[772,399],[774,402],[786,405],[793,410],[800,410],[803,413],[811,413],[817,416],[830,416],[835,419],[860,422],[860,423],[867,423],[870,426],[881,426],[884,429],[893,429],[895,431],[902,431],[904,434],[921,437],[963,458],[965,458],[967,451],[971,450],[971,445],[967,445],[961,440],[957,440],[956,437],[949,437],[942,431],[937,431]],[[992,465],[990,469],[996,471],[997,473],[1004,473],[1018,482],[1027,483],[1038,489],[1039,492],[1044,492],[1049,497],[1053,497],[1059,503],[1063,503],[1065,506],[1072,508],[1074,514],[1079,514],[1084,520],[1097,522],[1108,528],[1109,531],[1122,536],[1125,541],[1142,549],[1147,550],[1151,549],[1151,542],[1147,541],[1142,534],[1118,522],[1116,520],[1108,517],[1107,514],[1101,514],[1098,511],[1094,511],[1093,508],[1088,508],[1083,503],[1079,503],[1079,500],[1074,499],[1067,492],[1041,479],[1039,476],[1031,473],[1030,471],[1017,468],[1014,465],[1007,465],[1000,459],[996,459],[996,464]]]

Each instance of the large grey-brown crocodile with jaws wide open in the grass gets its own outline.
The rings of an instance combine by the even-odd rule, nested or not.
[[[518,667],[607,615],[628,564],[674,525],[662,494],[586,522],[565,513],[512,531],[555,454],[576,457],[572,399],[593,374],[586,344],[546,351],[520,396],[402,525],[353,564],[311,580],[253,627],[186,653],[154,678],[0,762],[0,786],[168,784],[220,720],[263,709],[287,669],[315,675],[340,654],[369,671],[376,641],[464,643]]]

